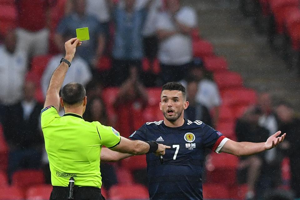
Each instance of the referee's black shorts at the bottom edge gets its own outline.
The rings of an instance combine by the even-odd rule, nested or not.
[[[74,186],[74,200],[105,200],[98,187]],[[68,187],[53,186],[50,200],[66,200],[68,198]]]

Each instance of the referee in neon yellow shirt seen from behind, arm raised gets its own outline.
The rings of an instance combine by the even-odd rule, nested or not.
[[[102,145],[134,155],[155,153],[164,155],[168,146],[154,141],[131,141],[120,136],[112,127],[99,122],[86,122],[82,115],[87,105],[84,87],[68,83],[59,90],[71,66],[76,47],[82,42],[72,38],[65,43],[66,56],[54,71],[41,111],[42,131],[48,154],[53,190],[50,199],[100,200],[100,152]],[[65,115],[58,115],[59,104]],[[74,186],[73,186],[74,185]]]

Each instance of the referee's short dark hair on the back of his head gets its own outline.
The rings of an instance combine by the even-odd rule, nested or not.
[[[85,95],[85,88],[80,83],[71,82],[62,89],[63,103],[67,105],[82,103]]]

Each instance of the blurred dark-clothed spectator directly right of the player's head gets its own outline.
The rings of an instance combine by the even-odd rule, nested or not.
[[[196,101],[197,91],[198,82],[189,81],[187,83],[187,101],[189,102],[189,105],[184,111],[184,118],[191,121],[200,120],[207,125],[212,126],[212,119],[208,109]]]

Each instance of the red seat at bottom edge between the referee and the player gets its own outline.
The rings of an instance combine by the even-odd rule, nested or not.
[[[140,184],[118,184],[109,189],[110,200],[149,199],[148,189]]]

